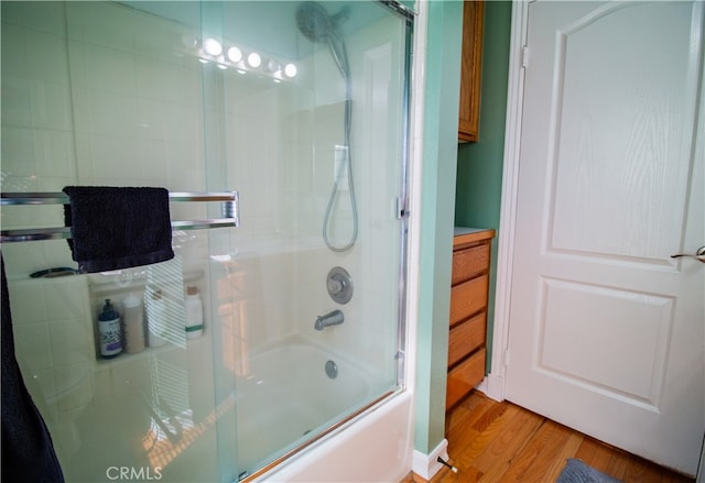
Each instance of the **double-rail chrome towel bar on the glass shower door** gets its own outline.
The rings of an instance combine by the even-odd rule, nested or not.
[[[170,201],[220,201],[221,217],[206,220],[172,221],[174,230],[205,230],[210,228],[238,227],[240,208],[238,191],[214,193],[170,193]],[[21,205],[68,205],[68,196],[63,193],[2,193],[0,206]],[[70,238],[70,227],[31,228],[1,230],[0,243],[62,240]]]

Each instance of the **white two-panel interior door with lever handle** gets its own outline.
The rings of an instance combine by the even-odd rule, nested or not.
[[[506,397],[694,475],[703,2],[532,2]],[[698,108],[699,105],[699,108]]]

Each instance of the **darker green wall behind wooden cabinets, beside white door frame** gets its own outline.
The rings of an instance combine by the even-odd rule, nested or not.
[[[486,2],[479,136],[477,143],[458,145],[455,198],[457,226],[495,230],[499,228],[510,31],[511,2]],[[498,238],[492,241],[490,303],[487,314],[488,371],[492,347]]]

